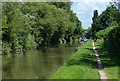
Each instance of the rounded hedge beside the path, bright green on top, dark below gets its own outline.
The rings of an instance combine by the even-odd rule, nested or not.
[[[109,27],[96,33],[97,38],[104,39],[104,45],[109,52],[120,53],[120,26]]]

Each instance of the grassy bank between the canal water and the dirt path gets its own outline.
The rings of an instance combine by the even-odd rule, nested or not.
[[[91,44],[86,42],[51,79],[100,79]]]

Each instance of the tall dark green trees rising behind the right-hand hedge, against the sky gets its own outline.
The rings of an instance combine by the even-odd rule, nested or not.
[[[119,14],[118,9],[113,5],[107,7],[106,10],[103,11],[102,14],[100,14],[99,16],[95,16],[95,11],[94,11],[94,17],[92,23],[93,38],[95,38],[95,34],[99,30],[103,30],[111,26],[117,26],[118,14]]]

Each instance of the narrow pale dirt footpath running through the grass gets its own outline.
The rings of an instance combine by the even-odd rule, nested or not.
[[[96,58],[97,58],[98,72],[99,72],[99,74],[100,74],[100,78],[101,78],[102,81],[107,81],[107,76],[106,76],[106,73],[104,72],[104,69],[103,69],[103,66],[102,66],[102,63],[101,63],[99,54],[98,54],[98,52],[97,52],[96,49],[95,49],[94,41],[92,41],[92,46],[93,46],[93,50],[94,50],[94,52],[95,52],[95,56],[96,56]]]

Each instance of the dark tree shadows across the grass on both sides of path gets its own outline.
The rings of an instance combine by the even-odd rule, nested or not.
[[[90,51],[93,50],[92,48],[85,48],[85,49],[88,49]],[[103,68],[118,65],[118,59],[115,59],[116,57],[113,58],[112,56],[110,56],[107,53],[102,54],[102,53],[105,53],[106,50],[103,50],[102,48],[97,48],[96,50],[98,51],[98,53],[100,55]],[[67,63],[68,63],[67,64],[68,66],[71,66],[71,65],[86,65],[87,66],[87,65],[89,65],[92,68],[98,68],[98,63],[97,63],[94,51],[93,51],[93,55],[83,53],[82,59],[79,59],[79,58],[74,59],[73,58],[73,59],[70,59]]]

